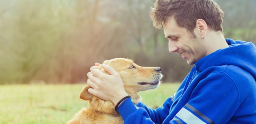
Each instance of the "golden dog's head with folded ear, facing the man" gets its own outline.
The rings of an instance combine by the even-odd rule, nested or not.
[[[124,58],[105,60],[103,63],[113,67],[119,73],[124,83],[124,89],[131,95],[134,103],[139,103],[141,100],[137,92],[157,88],[162,79],[160,67],[141,67],[132,60]],[[108,74],[102,67],[99,67],[99,70]],[[94,96],[88,92],[89,88],[89,85],[83,88],[80,93],[81,99],[92,100]]]

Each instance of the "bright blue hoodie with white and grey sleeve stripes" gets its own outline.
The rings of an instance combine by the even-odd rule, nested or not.
[[[124,124],[256,124],[256,47],[226,42],[194,64],[163,107],[125,100],[117,109]]]

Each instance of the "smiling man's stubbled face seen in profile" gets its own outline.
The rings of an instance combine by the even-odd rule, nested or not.
[[[186,29],[176,24],[173,18],[169,18],[163,26],[165,38],[169,40],[169,52],[177,52],[187,60],[188,64],[195,64],[206,56],[205,42],[199,33],[194,30],[196,38]]]

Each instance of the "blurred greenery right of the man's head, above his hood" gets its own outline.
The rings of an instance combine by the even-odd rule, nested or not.
[[[224,34],[226,38],[256,43],[255,0],[217,0],[224,11]]]

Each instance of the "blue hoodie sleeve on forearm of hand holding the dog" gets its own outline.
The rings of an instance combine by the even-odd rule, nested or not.
[[[137,109],[128,98],[117,108],[117,111],[124,119],[124,124],[162,124],[169,114],[171,104],[172,97],[164,102],[163,107],[158,107],[156,110],[148,108],[143,103],[138,103]]]

